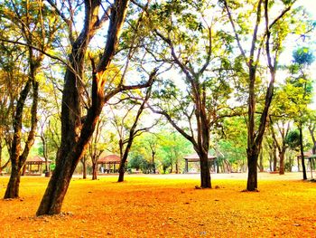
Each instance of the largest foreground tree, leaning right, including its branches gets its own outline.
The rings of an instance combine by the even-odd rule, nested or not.
[[[115,56],[119,35],[125,22],[125,15],[129,5],[128,0],[116,0],[113,4],[107,3],[107,9],[101,1],[85,0],[83,3],[85,8],[83,27],[78,36],[72,31],[74,22],[71,14],[76,12],[73,11],[73,7],[80,7],[80,5],[76,5],[76,3],[71,1],[68,3],[61,1],[61,3],[57,4],[55,1],[50,0],[49,3],[65,21],[65,24],[68,24],[71,52],[62,90],[60,148],[56,157],[54,173],[42,197],[37,215],[60,213],[64,196],[70,185],[71,176],[88,147],[88,141],[94,132],[104,104],[120,91],[144,88],[150,84],[149,82],[144,82],[126,86],[124,81],[119,81],[114,85],[107,77],[108,72],[111,71],[110,64]],[[64,7],[64,4],[69,4],[69,6]],[[65,14],[65,9],[71,10],[70,13]],[[96,63],[96,59],[90,56],[92,86],[89,93],[89,103],[85,105],[87,113],[85,116],[82,116],[83,102],[80,96],[85,92],[85,87],[82,83],[85,55],[91,39],[102,27],[102,24],[107,21],[107,43],[104,52],[100,54],[98,63]],[[155,73],[156,70],[151,75],[154,77]]]

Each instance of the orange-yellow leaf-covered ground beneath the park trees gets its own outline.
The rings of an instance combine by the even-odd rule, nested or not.
[[[23,177],[21,199],[0,200],[0,237],[316,237],[316,183],[301,174],[73,178],[63,214],[35,217],[48,178]],[[0,195],[8,177],[0,177]],[[216,188],[215,188],[216,187]]]

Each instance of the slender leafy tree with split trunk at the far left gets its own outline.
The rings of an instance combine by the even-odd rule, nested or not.
[[[20,91],[14,109],[14,137],[10,148],[12,169],[10,180],[5,191],[5,198],[16,198],[19,197],[22,168],[35,139],[39,94],[38,72],[40,71],[44,58],[42,51],[46,51],[51,47],[51,43],[58,28],[58,23],[45,18],[45,16],[49,14],[49,9],[47,9],[45,5],[42,5],[41,1],[34,5],[29,2],[22,2],[17,5],[13,2],[6,2],[5,8],[1,9],[0,14],[5,18],[5,21],[9,21],[13,24],[14,29],[20,31],[19,35],[14,34],[11,37],[20,39],[22,33],[23,45],[25,46],[24,51],[27,55],[28,63],[27,79],[24,82],[23,89]],[[2,41],[8,43],[18,42],[12,41],[11,37],[8,36],[7,39],[2,39]],[[33,47],[41,49],[41,51],[35,51]],[[18,65],[15,67],[16,70],[19,69]],[[31,91],[33,93],[31,122],[29,125],[28,136],[24,143],[24,148],[22,149],[23,111],[25,112],[27,99],[31,94]]]

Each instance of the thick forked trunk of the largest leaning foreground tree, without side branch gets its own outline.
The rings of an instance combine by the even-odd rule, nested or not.
[[[83,156],[88,141],[92,137],[99,114],[105,103],[103,73],[112,61],[118,43],[118,35],[125,21],[128,0],[117,0],[112,8],[110,24],[107,33],[107,46],[96,68],[92,62],[92,104],[88,109],[87,117],[81,125],[81,111],[79,93],[81,91],[80,78],[82,78],[84,56],[88,43],[95,34],[98,24],[98,7],[100,1],[85,1],[85,24],[79,38],[72,44],[70,62],[73,69],[67,68],[65,84],[62,94],[61,108],[61,144],[56,167],[51,176],[50,183],[42,197],[37,215],[60,214],[61,205],[70,185],[71,176]],[[117,91],[118,92],[118,91]],[[115,93],[113,93],[115,95]],[[111,96],[113,96],[111,95]]]

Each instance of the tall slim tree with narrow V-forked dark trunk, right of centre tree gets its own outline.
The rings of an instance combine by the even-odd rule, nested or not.
[[[274,96],[274,81],[275,73],[277,70],[277,64],[279,55],[282,51],[283,41],[289,32],[281,31],[281,27],[285,22],[283,19],[289,17],[293,1],[283,1],[283,9],[281,12],[271,21],[271,13],[273,13],[274,2],[269,0],[254,1],[252,4],[253,9],[256,9],[255,13],[251,13],[254,16],[255,26],[252,30],[246,28],[244,20],[240,18],[234,20],[234,16],[231,11],[231,5],[228,1],[222,0],[224,9],[228,13],[228,21],[230,22],[235,40],[237,41],[237,47],[241,53],[241,57],[246,63],[247,74],[248,74],[248,119],[247,119],[247,166],[248,166],[248,177],[246,190],[256,191],[257,190],[257,161],[260,154],[262,141],[265,134],[265,125],[268,118],[268,112],[270,104]],[[238,14],[238,17],[246,17],[250,19],[250,16],[240,6],[242,13]],[[264,21],[264,24],[261,23]],[[260,32],[260,27],[263,30]],[[245,45],[249,44],[247,40],[244,44],[242,42],[242,34],[249,33],[251,43],[250,50],[246,52]],[[265,55],[267,58],[267,67],[270,72],[271,80],[268,83],[268,87],[265,90],[264,106],[261,112],[258,126],[256,127],[256,83],[257,83],[257,71],[260,62],[260,55],[265,46]]]

